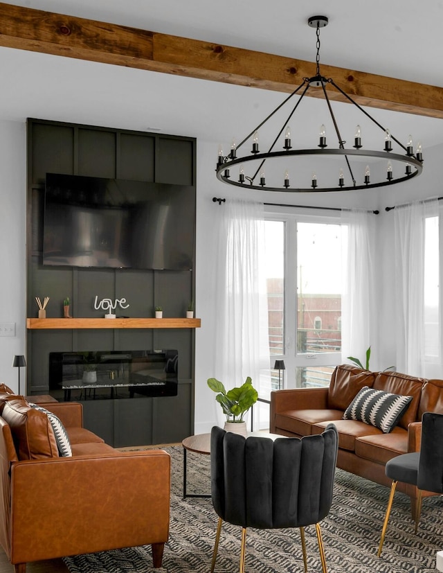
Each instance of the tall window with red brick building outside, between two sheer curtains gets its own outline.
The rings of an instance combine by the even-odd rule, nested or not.
[[[269,349],[272,361],[284,360],[284,387],[329,385],[341,363],[342,233],[337,219],[269,213],[266,220]],[[278,374],[271,370],[271,389]]]

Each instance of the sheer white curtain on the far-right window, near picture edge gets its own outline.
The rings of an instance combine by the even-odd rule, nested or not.
[[[425,376],[424,247],[426,217],[438,215],[438,201],[395,208],[397,371]]]

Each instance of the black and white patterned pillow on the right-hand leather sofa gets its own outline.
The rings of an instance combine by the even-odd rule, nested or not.
[[[344,420],[359,420],[389,434],[408,409],[412,396],[363,387],[345,409]]]

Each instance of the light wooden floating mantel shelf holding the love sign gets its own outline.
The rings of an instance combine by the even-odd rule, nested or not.
[[[200,328],[199,318],[28,318],[26,328]]]

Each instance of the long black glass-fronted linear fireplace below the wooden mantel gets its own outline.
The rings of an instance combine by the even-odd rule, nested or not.
[[[57,400],[177,396],[177,350],[49,353],[49,393]]]

